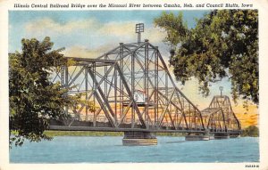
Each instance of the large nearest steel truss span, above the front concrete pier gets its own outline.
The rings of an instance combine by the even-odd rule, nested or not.
[[[54,82],[74,86],[69,93],[83,93],[96,110],[90,111],[85,103],[77,109],[65,107],[71,119],[57,125],[204,133],[201,111],[176,87],[158,47],[148,40],[121,43],[96,59],[71,59],[75,64],[55,73]]]

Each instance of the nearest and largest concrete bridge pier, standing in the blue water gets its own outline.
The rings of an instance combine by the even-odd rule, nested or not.
[[[130,145],[156,145],[157,139],[155,133],[149,132],[124,132],[122,144],[126,146]]]

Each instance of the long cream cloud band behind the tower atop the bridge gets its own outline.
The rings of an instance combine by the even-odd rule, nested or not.
[[[137,41],[137,34],[135,33],[135,25],[140,21],[121,21],[121,22],[107,22],[102,23],[94,18],[88,20],[70,20],[65,23],[60,23],[50,18],[42,18],[39,20],[32,20],[25,25],[26,34],[30,36],[63,36],[70,35],[83,37],[84,39],[91,39],[96,42],[96,38],[102,38],[110,43],[129,43]],[[68,35],[67,35],[68,34]],[[142,40],[149,39],[151,43],[160,43],[163,41],[165,34],[159,28],[149,26],[145,28],[142,33]],[[71,39],[70,39],[71,41]],[[83,40],[81,39],[81,42]],[[99,41],[99,40],[98,40]],[[115,42],[116,41],[116,42]],[[76,40],[77,42],[77,40]],[[105,42],[106,44],[107,42]],[[109,43],[109,42],[108,42]]]

